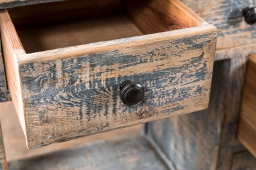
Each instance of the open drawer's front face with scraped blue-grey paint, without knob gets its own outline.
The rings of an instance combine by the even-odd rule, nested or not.
[[[215,43],[211,30],[20,64],[29,148],[207,108]],[[125,80],[144,86],[140,104],[119,99]]]

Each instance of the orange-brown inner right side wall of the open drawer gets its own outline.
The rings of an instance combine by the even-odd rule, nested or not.
[[[206,24],[181,1],[123,1],[124,11],[143,34],[153,34]]]

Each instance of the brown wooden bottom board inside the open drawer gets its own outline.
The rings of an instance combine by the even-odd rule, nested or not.
[[[142,35],[128,18],[119,14],[16,28],[27,53]]]

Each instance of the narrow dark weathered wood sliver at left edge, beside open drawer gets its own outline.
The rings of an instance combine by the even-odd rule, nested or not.
[[[1,40],[0,40],[0,49],[2,49]],[[11,100],[11,96],[7,88],[2,50],[0,50],[0,103],[5,101],[10,101],[10,100]]]

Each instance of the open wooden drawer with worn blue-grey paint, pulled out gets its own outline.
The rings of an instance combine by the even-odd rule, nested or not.
[[[216,28],[179,1],[36,4],[2,10],[0,24],[29,148],[208,106]],[[144,88],[139,104],[121,101],[127,80]]]

